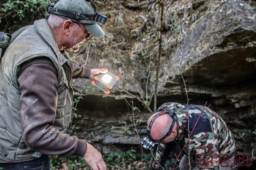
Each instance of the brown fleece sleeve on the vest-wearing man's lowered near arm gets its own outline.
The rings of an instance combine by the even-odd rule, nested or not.
[[[57,71],[52,65],[35,61],[24,63],[18,75],[25,143],[41,154],[84,156],[86,141],[62,134],[51,126],[58,97]]]

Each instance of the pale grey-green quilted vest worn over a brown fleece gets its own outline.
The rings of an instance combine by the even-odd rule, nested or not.
[[[52,126],[64,133],[70,122],[72,70],[58,49],[47,20],[37,20],[9,45],[0,62],[0,163],[28,161],[40,156],[26,146],[22,138],[17,81],[22,63],[39,57],[51,59],[58,71],[58,102]]]

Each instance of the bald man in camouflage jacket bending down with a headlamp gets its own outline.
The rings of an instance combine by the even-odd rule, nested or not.
[[[164,103],[158,112],[148,119],[147,135],[148,139],[142,141],[144,146],[150,148],[150,143],[160,143],[157,156],[159,162],[154,161],[154,169],[163,165],[170,153],[167,150],[171,151],[171,147],[174,146],[184,148],[184,156],[179,164],[180,170],[187,170],[190,167],[192,169],[230,169],[232,159],[234,160],[234,158],[228,158],[230,162],[229,165],[224,165],[225,167],[220,163],[219,156],[234,154],[236,146],[226,123],[209,107],[181,105],[175,102]],[[197,163],[195,162],[196,154],[200,155],[198,158],[200,162]],[[203,155],[209,156],[205,157],[204,164]],[[211,157],[211,155],[214,156]],[[179,153],[176,156],[179,156]]]

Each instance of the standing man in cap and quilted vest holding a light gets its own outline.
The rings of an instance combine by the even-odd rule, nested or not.
[[[106,73],[68,62],[64,51],[104,35],[98,13],[85,0],[54,1],[48,12],[49,20],[28,26],[1,59],[0,167],[50,169],[49,155],[60,155],[83,156],[94,170],[106,170],[91,144],[64,134],[72,116],[71,78]]]

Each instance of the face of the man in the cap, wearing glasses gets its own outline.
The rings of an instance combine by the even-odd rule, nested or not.
[[[77,26],[75,26],[77,24]],[[72,35],[72,39],[70,40],[70,48],[74,52],[77,52],[85,41],[91,41],[91,34],[83,24],[74,23],[74,31]]]

